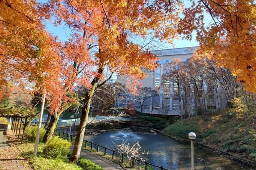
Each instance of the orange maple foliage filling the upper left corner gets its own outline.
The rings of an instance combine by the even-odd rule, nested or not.
[[[45,30],[36,1],[3,0],[0,9],[2,80],[51,93],[58,82],[59,44]]]

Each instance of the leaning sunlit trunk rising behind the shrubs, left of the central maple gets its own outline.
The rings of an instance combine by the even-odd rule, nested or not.
[[[57,111],[55,111],[54,115],[51,116],[45,135],[43,136],[43,143],[47,143],[52,138],[58,119],[59,119],[59,114]]]

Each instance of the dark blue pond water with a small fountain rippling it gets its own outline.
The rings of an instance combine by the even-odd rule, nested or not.
[[[180,143],[153,130],[122,129],[95,136],[85,135],[84,139],[110,149],[114,149],[114,143],[120,144],[123,140],[130,144],[139,140],[142,150],[150,153],[145,156],[149,163],[171,170],[191,169],[190,144]],[[201,148],[195,147],[194,155],[195,170],[255,170]]]

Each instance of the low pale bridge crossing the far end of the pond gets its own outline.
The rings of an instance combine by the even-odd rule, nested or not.
[[[96,116],[96,117],[88,117],[88,123],[104,123],[104,122],[131,122],[138,121],[138,117],[109,117],[109,116]],[[46,121],[42,122],[42,125],[45,125]],[[38,121],[32,121],[31,125],[37,125]],[[69,120],[59,120],[57,122],[56,128],[78,126],[80,124],[80,118],[77,119],[69,119]],[[116,124],[116,123],[115,123]]]

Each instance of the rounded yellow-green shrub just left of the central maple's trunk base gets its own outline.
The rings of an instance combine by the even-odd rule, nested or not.
[[[43,148],[46,156],[51,158],[65,158],[69,153],[71,143],[67,140],[54,136]]]

